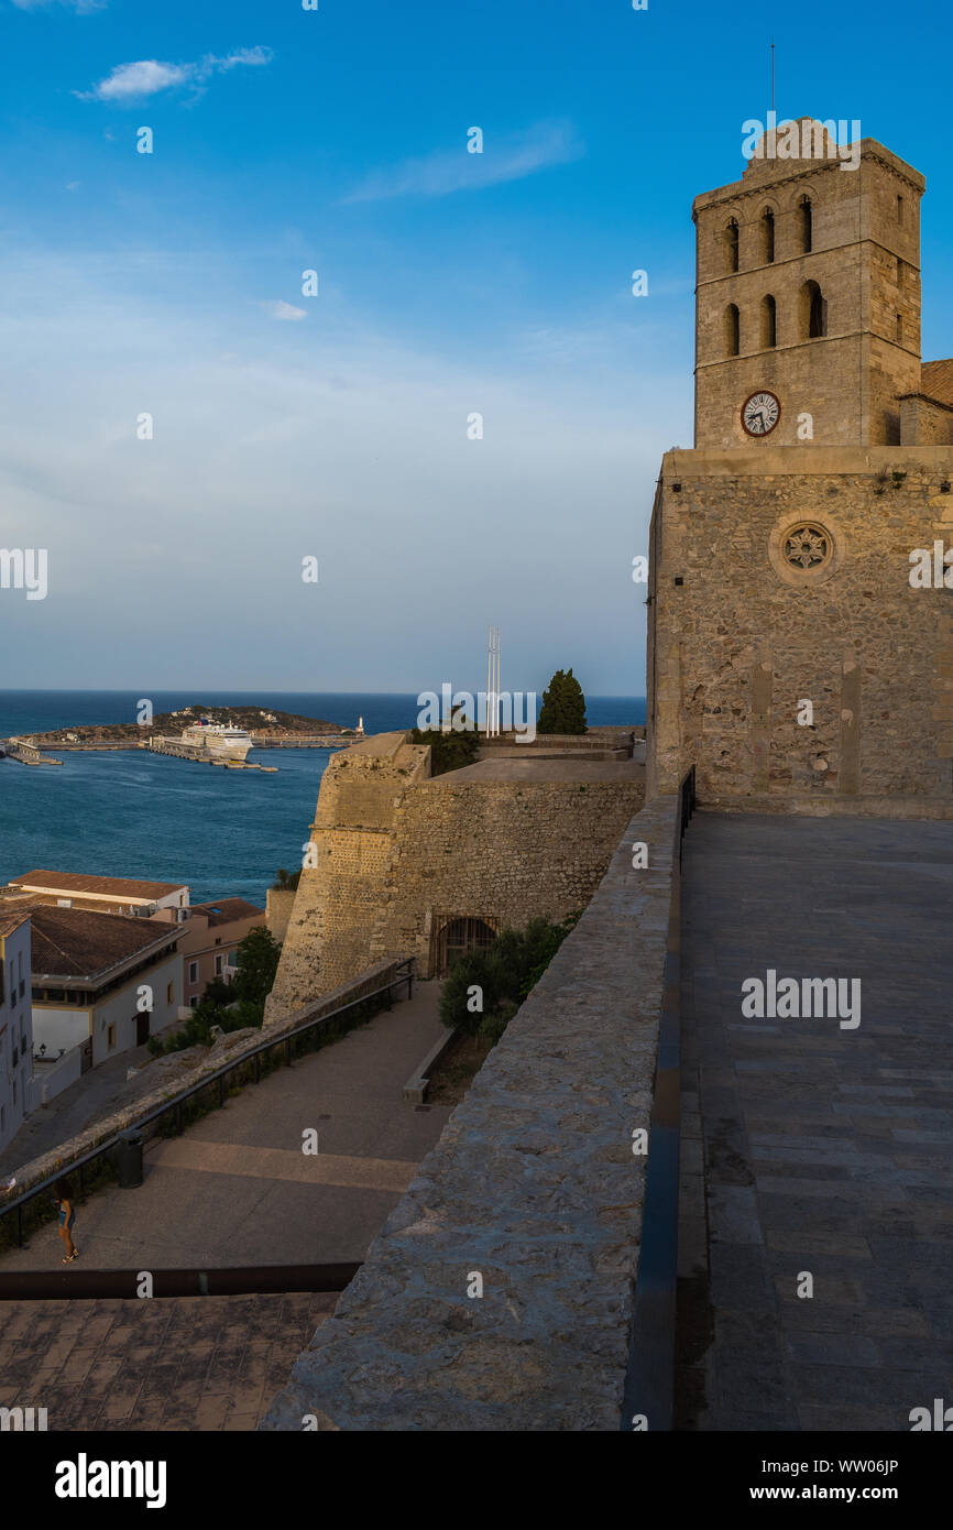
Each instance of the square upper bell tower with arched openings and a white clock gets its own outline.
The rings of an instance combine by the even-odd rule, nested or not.
[[[924,185],[873,139],[838,151],[802,118],[694,199],[696,447],[899,444],[898,399],[921,387]]]

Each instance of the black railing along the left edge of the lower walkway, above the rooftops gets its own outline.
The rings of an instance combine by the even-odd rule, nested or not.
[[[156,1106],[154,1111],[150,1111],[147,1115],[139,1117],[139,1120],[132,1121],[127,1128],[124,1128],[124,1131],[132,1131],[132,1129],[145,1131],[147,1128],[151,1128],[151,1132],[148,1132],[148,1135],[158,1135],[159,1134],[158,1125],[162,1123],[162,1128],[171,1125],[171,1129],[164,1129],[161,1135],[179,1137],[185,1131],[185,1128],[191,1125],[191,1120],[196,1120],[199,1115],[205,1114],[205,1111],[202,1109],[202,1111],[193,1111],[190,1115],[190,1105],[191,1102],[196,1102],[199,1095],[205,1094],[207,1097],[213,1097],[213,1103],[207,1106],[208,1109],[214,1108],[214,1099],[217,1099],[219,1106],[225,1105],[225,1100],[228,1099],[229,1094],[229,1080],[233,1074],[246,1069],[249,1071],[249,1077],[246,1077],[239,1085],[240,1088],[245,1083],[252,1083],[252,1082],[259,1083],[262,1077],[263,1060],[268,1063],[268,1068],[265,1071],[268,1073],[271,1071],[272,1063],[269,1054],[272,1053],[281,1053],[285,1065],[291,1066],[294,1056],[301,1057],[306,1056],[309,1051],[317,1051],[317,1045],[301,1045],[303,1042],[320,1043],[321,1042],[320,1033],[323,1030],[327,1031],[333,1031],[335,1028],[340,1030],[344,1017],[352,1014],[352,1011],[355,1010],[369,1007],[367,1014],[363,1017],[370,1019],[372,1014],[376,1014],[382,1007],[390,1008],[393,1005],[395,990],[401,988],[404,984],[407,984],[407,998],[410,999],[413,994],[413,958],[407,958],[405,961],[398,962],[395,967],[393,978],[389,982],[382,984],[382,987],[372,990],[372,993],[363,993],[359,994],[359,998],[350,999],[347,1004],[338,1005],[337,1010],[330,1010],[327,1014],[318,1014],[311,1021],[301,1021],[300,1025],[295,1025],[291,1031],[283,1031],[281,1036],[272,1036],[268,1040],[259,1042],[257,1047],[252,1047],[249,1051],[243,1051],[240,1057],[236,1057],[231,1062],[226,1062],[222,1068],[217,1068],[213,1073],[205,1074],[205,1077],[199,1083],[193,1083],[188,1089],[182,1089],[181,1094],[176,1094],[170,1100],[165,1100],[162,1105]],[[359,1017],[361,1016],[352,1014],[350,1024],[355,1024],[356,1019]],[[344,1025],[344,1030],[347,1028],[349,1027]],[[344,1034],[344,1030],[341,1030],[341,1034]],[[187,1115],[190,1115],[190,1120],[187,1120]],[[170,1118],[170,1121],[167,1121],[167,1117]],[[173,1117],[174,1123],[171,1121]],[[58,1180],[76,1177],[78,1180],[76,1200],[80,1201],[84,1198],[86,1193],[96,1189],[99,1183],[109,1181],[112,1178],[110,1174],[112,1164],[107,1163],[106,1160],[110,1160],[112,1155],[116,1152],[119,1146],[119,1137],[121,1132],[113,1132],[104,1141],[98,1143],[93,1149],[90,1149],[90,1152],[83,1154],[78,1158],[72,1158],[69,1163],[61,1163],[54,1174],[47,1175],[44,1180],[40,1180],[37,1184],[32,1184],[29,1190],[23,1190],[21,1195],[8,1200],[8,1203],[0,1207],[0,1233],[5,1233],[8,1230],[9,1219],[12,1218],[15,1222],[17,1247],[23,1247],[24,1207],[31,1206],[31,1203],[34,1203],[38,1196],[43,1196],[44,1210],[47,1215],[37,1216],[37,1226],[40,1226],[43,1221],[47,1221],[54,1210],[50,1192]]]

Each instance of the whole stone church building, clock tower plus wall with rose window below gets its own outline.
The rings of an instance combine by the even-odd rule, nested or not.
[[[779,130],[694,200],[696,441],[665,453],[652,514],[649,794],[694,765],[704,806],[953,819],[953,358],[919,361],[924,181],[791,127],[795,156]]]

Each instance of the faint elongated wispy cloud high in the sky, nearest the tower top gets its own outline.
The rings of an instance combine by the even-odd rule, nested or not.
[[[526,133],[499,139],[493,133],[483,139],[483,153],[467,151],[460,138],[456,150],[405,159],[389,170],[367,176],[344,202],[379,202],[395,196],[447,196],[450,191],[502,185],[523,181],[549,165],[566,165],[586,153],[575,130],[568,122],[538,122]]]

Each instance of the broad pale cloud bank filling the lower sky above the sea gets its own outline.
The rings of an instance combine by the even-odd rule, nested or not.
[[[159,272],[176,254],[147,252]],[[46,601],[3,612],[0,687],[474,690],[491,600],[508,688],[568,643],[592,692],[641,688],[632,555],[672,415],[690,428],[690,384],[656,352],[623,335],[597,366],[508,341],[477,360],[456,332],[444,350],[332,309],[289,349],[240,283],[193,303],[133,256],[0,242],[0,545],[50,566]],[[220,272],[229,252],[197,259]]]

